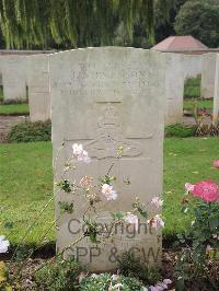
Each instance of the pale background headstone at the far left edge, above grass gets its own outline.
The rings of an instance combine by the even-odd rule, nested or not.
[[[2,83],[4,100],[25,100],[26,96],[26,57],[1,57]]]

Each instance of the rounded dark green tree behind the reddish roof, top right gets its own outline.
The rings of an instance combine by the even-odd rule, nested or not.
[[[176,16],[178,35],[193,35],[209,47],[219,47],[219,1],[186,1]]]

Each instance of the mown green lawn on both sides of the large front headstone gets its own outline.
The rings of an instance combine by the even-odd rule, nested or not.
[[[219,159],[218,138],[165,139],[164,142],[164,234],[175,234],[188,220],[180,211],[185,182],[211,178],[219,172],[211,161]],[[50,142],[0,146],[0,234],[18,244],[26,228],[53,196]],[[53,202],[24,243],[37,243],[46,230],[54,240]],[[11,224],[10,224],[10,223]],[[5,223],[11,229],[5,229]]]

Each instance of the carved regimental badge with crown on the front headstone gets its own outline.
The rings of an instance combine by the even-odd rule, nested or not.
[[[137,156],[141,154],[140,144],[123,136],[117,108],[119,103],[108,102],[99,104],[102,115],[97,118],[96,139],[85,144],[85,149],[91,158],[116,158],[119,147],[123,147],[122,156]]]

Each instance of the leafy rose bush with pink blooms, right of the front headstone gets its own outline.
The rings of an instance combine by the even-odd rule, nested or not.
[[[212,164],[219,167],[219,161]],[[176,265],[178,282],[205,275],[215,288],[217,268],[212,266],[219,259],[219,185],[208,179],[196,184],[186,183],[182,211],[191,212],[193,221],[184,235],[178,235],[184,245]]]

